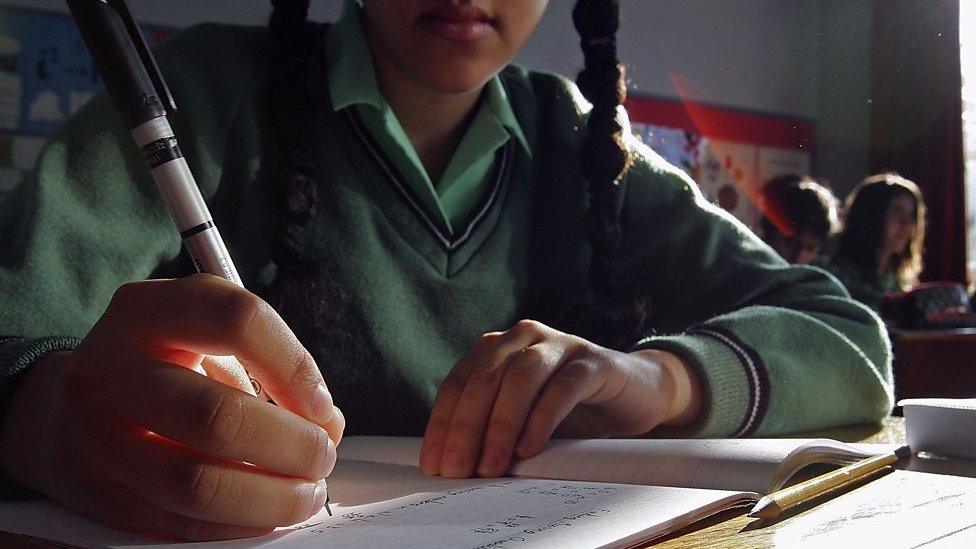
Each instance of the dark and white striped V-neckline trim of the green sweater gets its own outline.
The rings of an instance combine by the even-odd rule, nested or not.
[[[345,116],[346,121],[353,129],[353,132],[366,148],[366,151],[383,171],[390,183],[392,183],[397,193],[407,204],[410,205],[410,209],[414,212],[424,227],[436,238],[438,243],[442,248],[444,248],[445,251],[453,252],[471,239],[471,236],[475,233],[475,230],[485,220],[488,212],[491,210],[492,205],[498,199],[499,191],[502,188],[502,183],[504,183],[511,174],[511,156],[513,149],[512,140],[506,143],[505,146],[503,146],[500,151],[496,153],[499,158],[496,161],[497,167],[495,169],[495,177],[491,182],[490,191],[482,199],[478,209],[464,225],[464,230],[458,232],[457,234],[451,235],[448,234],[441,224],[433,218],[431,213],[423,207],[420,199],[414,194],[413,190],[406,183],[404,183],[402,175],[393,167],[392,162],[386,158],[379,145],[366,131],[362,121],[354,112],[354,109],[342,109],[342,114]]]

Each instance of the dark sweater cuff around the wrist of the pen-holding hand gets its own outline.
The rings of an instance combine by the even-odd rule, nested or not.
[[[70,351],[81,342],[78,338],[53,336],[40,339],[0,336],[0,426],[6,418],[7,405],[27,370],[50,353]],[[24,499],[31,492],[0,475],[0,501]]]

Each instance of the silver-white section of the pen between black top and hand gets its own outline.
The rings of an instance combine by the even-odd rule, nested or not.
[[[165,116],[132,130],[196,269],[243,286]]]

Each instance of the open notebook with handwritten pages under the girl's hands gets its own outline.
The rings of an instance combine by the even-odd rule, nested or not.
[[[420,439],[349,437],[324,511],[262,538],[193,547],[628,547],[754,503],[814,463],[890,450],[831,440],[559,440],[510,477],[417,468]],[[260,504],[260,502],[255,502]],[[0,502],[0,530],[75,547],[150,547],[50,501]]]

